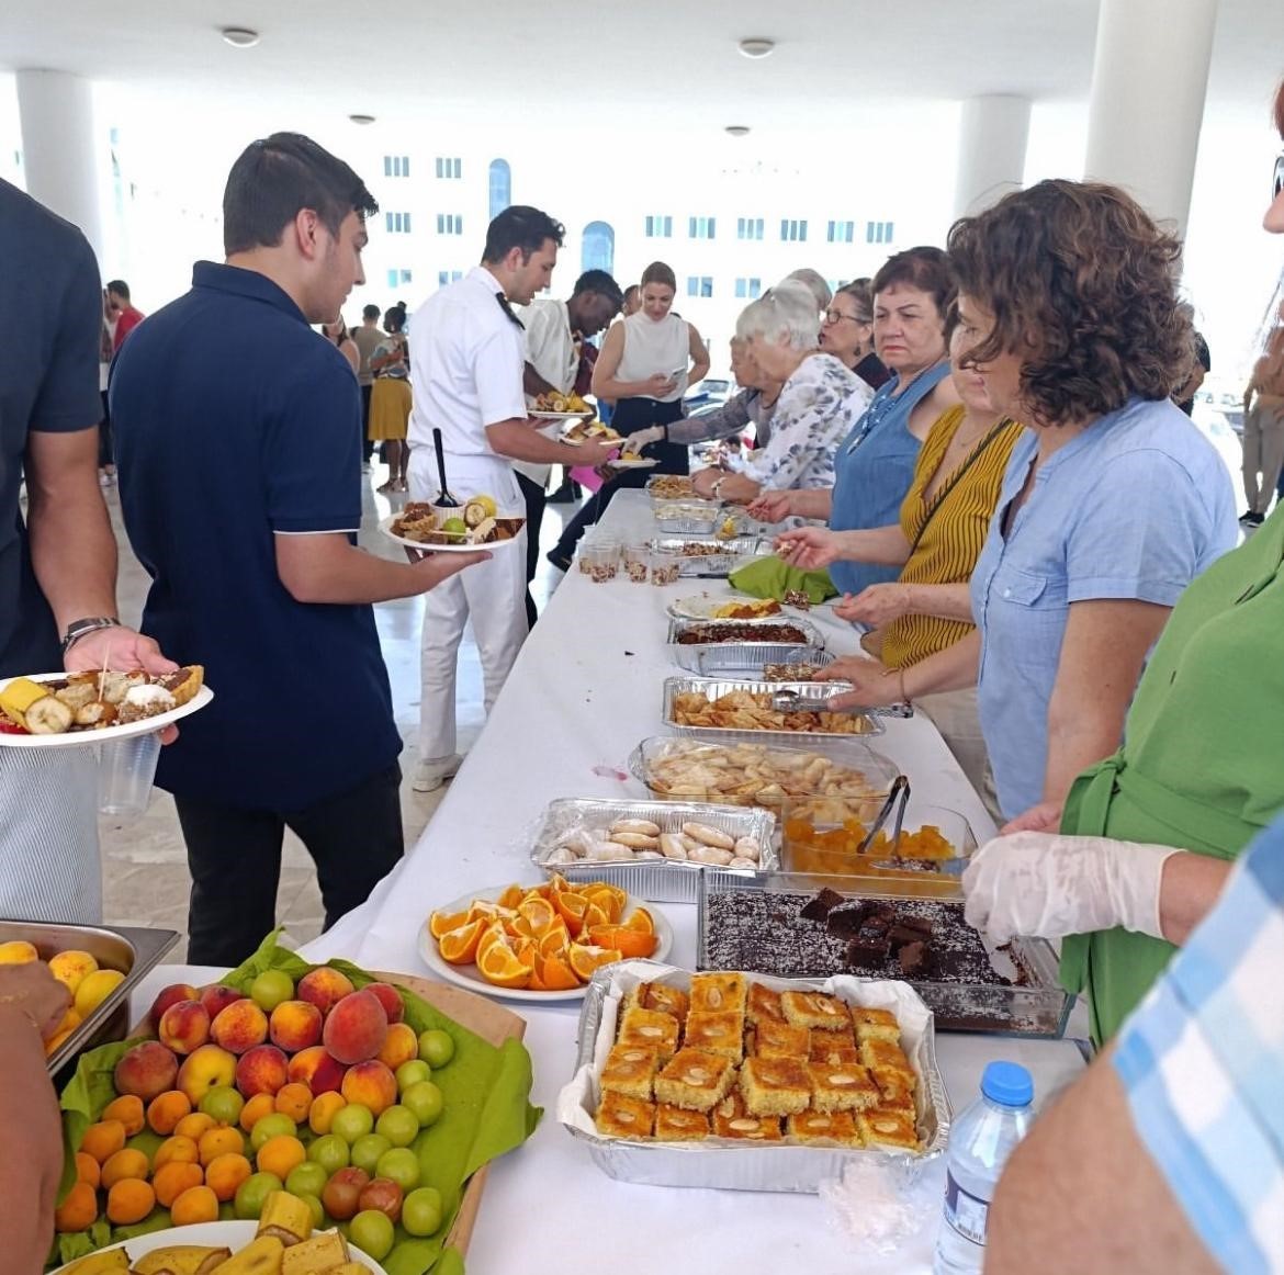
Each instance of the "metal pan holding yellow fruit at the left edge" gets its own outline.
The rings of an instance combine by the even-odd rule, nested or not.
[[[49,960],[59,951],[87,951],[100,969],[119,969],[125,978],[46,1059],[56,1076],[78,1054],[95,1045],[123,1040],[130,1030],[130,993],[178,941],[173,930],[127,926],[68,926],[46,921],[0,921],[0,942],[26,939]]]

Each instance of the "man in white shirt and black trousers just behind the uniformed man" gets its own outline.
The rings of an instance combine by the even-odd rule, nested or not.
[[[624,295],[605,270],[586,270],[575,280],[569,300],[533,300],[519,318],[526,329],[526,366],[523,385],[526,402],[541,394],[569,394],[577,383],[588,384],[592,362],[584,360],[586,342],[596,336],[620,312]],[[596,356],[588,347],[587,353]],[[526,502],[526,619],[535,623],[535,600],[530,582],[539,565],[539,525],[544,517],[548,465],[517,461],[517,484]]]

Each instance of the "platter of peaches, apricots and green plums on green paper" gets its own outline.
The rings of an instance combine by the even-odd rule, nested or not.
[[[238,1220],[293,1235],[286,1253],[342,1226],[397,1275],[433,1270],[466,1243],[485,1163],[539,1118],[523,1026],[272,939],[220,984],[163,989],[144,1034],[83,1054],[63,1090],[58,1261]]]

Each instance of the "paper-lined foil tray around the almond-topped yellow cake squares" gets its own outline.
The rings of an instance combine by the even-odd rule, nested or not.
[[[829,991],[849,1004],[890,1009],[901,1026],[901,1043],[918,1072],[914,1089],[918,1132],[923,1149],[917,1154],[885,1147],[795,1147],[781,1143],[738,1143],[707,1138],[693,1143],[659,1143],[650,1139],[606,1138],[593,1125],[600,1090],[597,1075],[615,1039],[620,1003],[639,982],[665,982],[688,987],[691,973],[651,960],[623,960],[593,975],[579,1016],[579,1054],[575,1073],[557,1097],[557,1120],[588,1147],[598,1168],[609,1177],[651,1186],[705,1186],[720,1190],[814,1193],[822,1181],[841,1175],[853,1157],[871,1157],[913,1177],[940,1156],[949,1143],[950,1100],[936,1064],[932,1013],[904,982],[868,978],[768,978],[751,975],[777,991]],[[904,1181],[904,1176],[899,1180]]]

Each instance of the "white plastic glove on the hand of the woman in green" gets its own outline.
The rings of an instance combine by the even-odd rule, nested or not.
[[[1162,939],[1159,883],[1175,846],[1014,832],[995,837],[963,873],[964,917],[994,942],[1062,939],[1122,926]]]

